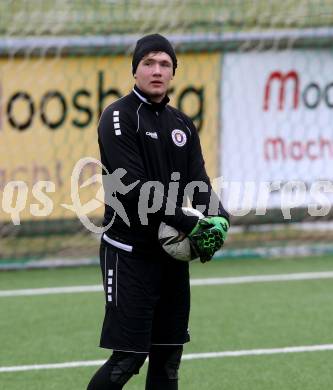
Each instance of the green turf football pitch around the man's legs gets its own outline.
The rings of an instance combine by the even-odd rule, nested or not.
[[[223,260],[191,264],[192,279],[331,272],[333,259]],[[333,351],[253,355],[257,349],[333,344],[332,276],[298,281],[192,286],[185,354],[249,350],[249,355],[185,360],[180,389],[332,388]],[[302,278],[301,278],[302,279]],[[225,279],[224,279],[225,280]],[[0,389],[82,390],[95,366],[4,372],[4,367],[106,359],[97,347],[102,292],[3,296],[3,290],[97,285],[95,267],[0,273]],[[2,295],[1,295],[2,294]],[[144,371],[126,387],[144,388]]]

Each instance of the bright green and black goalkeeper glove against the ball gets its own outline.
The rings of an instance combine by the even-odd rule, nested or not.
[[[206,217],[199,219],[189,234],[194,249],[202,263],[209,261],[227,238],[229,222],[224,217]]]

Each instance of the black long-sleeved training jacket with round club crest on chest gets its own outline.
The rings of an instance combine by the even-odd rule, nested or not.
[[[184,189],[190,182],[203,182],[208,188],[206,192],[196,189],[193,207],[205,205],[203,214],[208,215],[212,194],[216,211],[209,214],[228,218],[228,213],[212,191],[193,122],[169,106],[168,102],[167,96],[161,103],[151,102],[135,86],[129,95],[103,111],[98,126],[98,142],[104,167],[109,174],[122,168],[119,171],[122,184],[114,181],[114,178],[108,180],[110,176],[105,176],[106,172],[103,172],[106,203],[104,226],[113,220],[106,233],[111,238],[145,252],[154,252],[159,248],[157,232],[161,221],[184,233],[189,233],[195,226],[197,217],[186,216],[181,211]],[[130,191],[125,188],[136,181],[138,183]],[[151,181],[159,182],[155,192],[151,188]],[[170,182],[170,188],[179,185],[178,196],[168,198]],[[121,210],[115,213],[111,207],[115,197],[120,202],[118,205],[126,211],[125,218]],[[155,212],[145,213],[147,204]],[[166,210],[172,215],[166,215]],[[143,218],[140,219],[140,216]]]

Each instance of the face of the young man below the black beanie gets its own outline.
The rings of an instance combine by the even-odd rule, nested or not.
[[[169,54],[151,52],[142,58],[135,73],[136,85],[152,101],[160,102],[167,93],[173,76],[173,64]]]

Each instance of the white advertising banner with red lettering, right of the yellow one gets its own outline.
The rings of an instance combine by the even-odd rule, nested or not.
[[[226,54],[221,80],[229,207],[240,199],[252,209],[332,203],[333,51]]]

